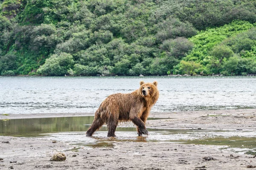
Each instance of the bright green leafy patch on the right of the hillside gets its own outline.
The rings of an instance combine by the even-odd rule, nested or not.
[[[190,39],[195,46],[183,60],[200,63],[203,75],[255,74],[255,31],[253,24],[242,21],[201,31]],[[182,70],[183,60],[176,70]]]

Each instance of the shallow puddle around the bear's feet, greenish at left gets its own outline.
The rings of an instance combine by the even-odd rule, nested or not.
[[[63,141],[79,147],[113,147],[115,142],[175,142],[185,144],[227,145],[222,150],[256,154],[255,131],[231,130],[170,130],[150,129],[148,136],[137,136],[135,125],[124,123],[117,127],[117,137],[107,137],[103,126],[93,137],[85,133],[94,116],[58,117],[37,119],[0,120],[0,136],[43,137]],[[158,118],[154,118],[158,119]],[[160,119],[160,118],[159,118]]]

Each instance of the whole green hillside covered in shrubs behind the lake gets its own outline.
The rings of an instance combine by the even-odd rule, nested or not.
[[[255,0],[0,0],[0,75],[256,74]]]

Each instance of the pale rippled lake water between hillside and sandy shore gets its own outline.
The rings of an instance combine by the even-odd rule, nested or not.
[[[141,80],[158,82],[154,112],[256,108],[256,77],[0,77],[0,114],[92,113]]]

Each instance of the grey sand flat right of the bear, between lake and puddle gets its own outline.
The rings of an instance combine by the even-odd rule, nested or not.
[[[153,113],[151,116],[176,118],[148,121],[150,127],[157,128],[256,130],[256,109]]]

